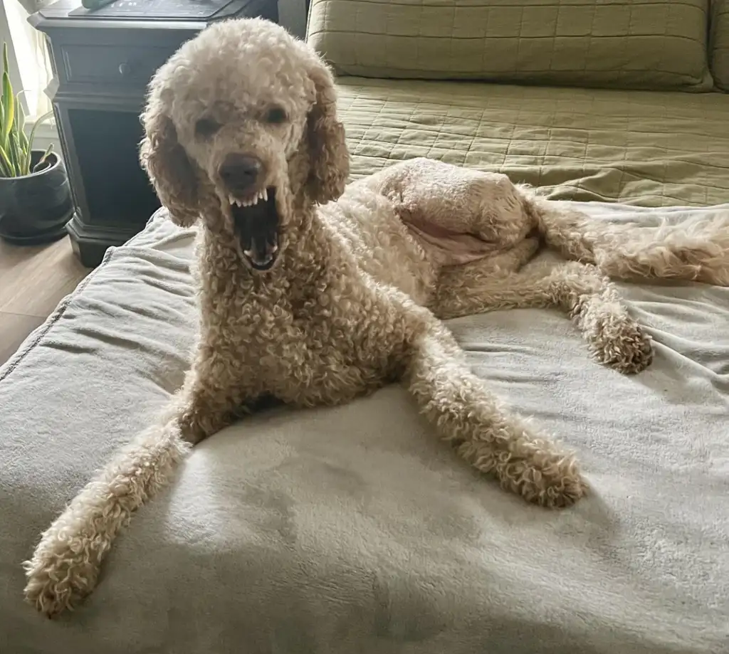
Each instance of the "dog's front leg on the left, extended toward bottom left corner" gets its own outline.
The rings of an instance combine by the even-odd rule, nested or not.
[[[230,365],[211,367],[212,359],[204,359],[206,372],[193,367],[157,427],[117,453],[42,534],[24,564],[26,599],[37,610],[55,615],[93,591],[101,562],[131,515],[171,481],[190,443],[230,422],[242,389],[226,377]]]

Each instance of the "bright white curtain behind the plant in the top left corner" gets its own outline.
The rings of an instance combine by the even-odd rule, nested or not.
[[[0,0],[4,4],[9,28],[9,48],[15,56],[20,79],[13,80],[17,90],[23,89],[28,118],[50,111],[50,100],[44,93],[52,77],[44,35],[28,25],[28,15],[51,4],[53,0]],[[7,38],[7,37],[6,37]]]

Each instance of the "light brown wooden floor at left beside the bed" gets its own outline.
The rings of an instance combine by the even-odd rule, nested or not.
[[[0,365],[89,272],[68,237],[32,247],[0,240]]]

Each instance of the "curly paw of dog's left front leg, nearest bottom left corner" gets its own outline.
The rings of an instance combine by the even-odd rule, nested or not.
[[[52,548],[44,540],[36,549],[26,570],[26,601],[39,612],[52,618],[64,610],[72,609],[94,588],[98,577],[95,556],[84,548],[71,547],[71,543],[55,542]]]

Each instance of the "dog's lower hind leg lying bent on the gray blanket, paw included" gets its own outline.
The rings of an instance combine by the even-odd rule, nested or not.
[[[429,306],[440,319],[499,309],[561,308],[602,364],[632,374],[652,361],[650,338],[628,314],[615,287],[594,266],[578,262],[515,273],[494,270],[491,260],[444,268]]]

